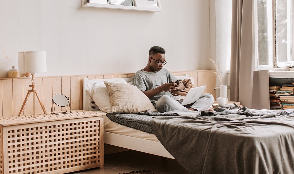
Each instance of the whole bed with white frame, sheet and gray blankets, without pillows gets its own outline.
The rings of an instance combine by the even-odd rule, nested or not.
[[[84,79],[83,87],[104,80],[116,79]],[[85,89],[84,110],[97,110]],[[119,125],[107,117],[105,122],[113,127],[105,125],[104,142],[176,159],[190,173],[294,173],[293,112],[293,109],[242,107],[239,110],[218,108],[216,112],[178,110],[166,115],[152,110],[137,114],[108,113],[110,119],[119,116],[125,122],[131,117],[142,117],[147,120],[145,124],[151,133],[141,130],[136,135],[142,136],[135,137],[128,132],[137,130],[126,126],[122,133],[118,127],[123,122]]]

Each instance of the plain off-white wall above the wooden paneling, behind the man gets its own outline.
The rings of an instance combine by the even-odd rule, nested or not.
[[[161,0],[161,12],[81,7],[81,0],[0,1],[0,44],[18,67],[18,51],[46,51],[36,76],[128,73],[144,68],[154,45],[170,71],[210,69],[209,1]],[[0,50],[0,77],[11,64]]]

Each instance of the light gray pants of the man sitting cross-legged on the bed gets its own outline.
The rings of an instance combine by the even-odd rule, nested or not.
[[[163,95],[156,102],[156,110],[158,112],[168,112],[174,110],[188,110],[188,107],[192,107],[193,109],[197,109],[198,111],[206,110],[210,107],[214,102],[214,98],[211,94],[202,94],[199,99],[190,104],[182,106],[179,102],[173,99],[173,97],[168,95]]]

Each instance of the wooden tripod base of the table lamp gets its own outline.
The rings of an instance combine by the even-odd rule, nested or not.
[[[22,104],[21,106],[21,109],[19,111],[19,115],[21,115],[21,112],[24,110],[24,106],[26,105],[26,102],[28,101],[28,98],[30,96],[31,93],[33,93],[33,117],[36,117],[36,105],[35,105],[35,99],[36,99],[36,96],[39,100],[39,103],[42,107],[42,110],[44,112],[44,114],[47,114],[46,110],[45,110],[45,107],[43,105],[43,103],[41,102],[37,92],[39,92],[39,90],[35,90],[35,87],[37,87],[37,85],[34,84],[34,76],[35,76],[35,73],[32,73],[32,84],[29,86],[30,89],[32,88],[32,90],[28,90],[28,93],[26,94],[26,98],[24,99],[24,103]]]

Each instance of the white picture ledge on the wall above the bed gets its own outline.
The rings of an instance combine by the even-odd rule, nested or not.
[[[136,10],[136,11],[161,11],[160,2],[159,6],[124,6],[124,5],[113,5],[113,4],[96,4],[89,3],[88,0],[82,0],[83,7],[95,7],[95,8],[106,8],[106,9],[121,9],[121,10]]]

